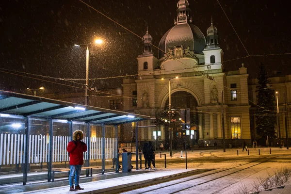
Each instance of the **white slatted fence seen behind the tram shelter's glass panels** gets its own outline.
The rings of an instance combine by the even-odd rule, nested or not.
[[[28,162],[41,163],[49,162],[50,157],[50,136],[29,135]],[[69,161],[66,150],[67,144],[71,141],[69,136],[52,136],[52,162]],[[85,137],[84,142],[89,145],[89,138]],[[26,135],[2,133],[0,135],[0,165],[25,163]],[[102,159],[103,138],[91,137],[90,156],[84,152],[84,160]],[[105,138],[105,159],[114,158],[116,150],[116,139]]]

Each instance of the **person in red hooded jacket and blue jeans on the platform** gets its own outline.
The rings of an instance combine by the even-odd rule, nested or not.
[[[82,142],[83,131],[75,130],[73,133],[73,140],[68,143],[67,151],[70,156],[70,191],[83,190],[79,185],[81,174],[81,167],[83,165],[83,152],[87,151],[87,145]],[[75,188],[74,188],[75,176]]]

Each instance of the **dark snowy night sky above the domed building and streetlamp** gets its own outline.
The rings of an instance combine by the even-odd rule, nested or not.
[[[158,46],[162,35],[174,26],[178,0],[84,0],[130,31],[143,36],[146,26]],[[291,53],[289,0],[219,0],[249,55]],[[206,36],[213,24],[218,29],[224,61],[248,56],[217,0],[189,0],[193,24]],[[90,78],[137,73],[136,57],[142,40],[79,0],[1,0],[0,68],[57,78],[85,78],[86,44],[102,38],[102,46],[89,46]],[[154,49],[157,56],[157,49]],[[242,63],[256,77],[260,63],[270,75],[291,74],[291,55],[248,57],[226,62],[226,70]],[[44,86],[47,92],[76,88],[7,74],[0,69],[0,90],[25,92]],[[20,74],[12,72],[15,74]],[[25,75],[81,87],[80,84]],[[91,82],[92,87],[113,88],[121,79]],[[79,81],[84,83],[84,81]]]

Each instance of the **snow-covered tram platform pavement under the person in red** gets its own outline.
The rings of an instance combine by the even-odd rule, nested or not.
[[[203,169],[158,169],[158,170],[133,170],[129,173],[108,173],[95,175],[92,178],[80,178],[80,186],[84,190],[73,193],[92,194],[126,191],[125,188],[140,188],[168,180],[182,178],[194,173],[202,173]],[[69,183],[65,180],[56,182],[42,182],[30,185],[2,186],[2,194],[72,194],[69,191]]]

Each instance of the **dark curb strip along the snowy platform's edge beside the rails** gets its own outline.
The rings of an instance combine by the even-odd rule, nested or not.
[[[178,179],[178,178],[192,176],[192,175],[199,174],[201,172],[210,171],[210,170],[212,170],[212,169],[196,169],[196,170],[191,170],[191,171],[187,171],[187,172],[177,173],[174,175],[168,175],[168,176],[163,176],[163,177],[159,177],[159,178],[152,178],[152,179],[133,182],[133,183],[129,183],[129,184],[118,185],[118,186],[113,186],[113,187],[104,188],[104,189],[98,189],[95,191],[82,192],[82,194],[105,194],[105,193],[106,194],[117,194],[117,193],[129,191],[129,190],[133,190],[133,189],[138,189],[138,188],[142,188],[142,187],[146,187],[146,186],[150,186],[150,185],[159,184],[162,182],[167,182],[167,181]]]

